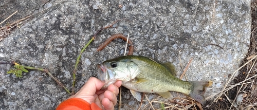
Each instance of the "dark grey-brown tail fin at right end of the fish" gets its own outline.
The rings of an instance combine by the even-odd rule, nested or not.
[[[201,104],[205,104],[205,90],[206,87],[212,85],[212,81],[189,81],[192,83],[192,88],[189,93],[189,96],[196,100],[197,102],[200,102]]]

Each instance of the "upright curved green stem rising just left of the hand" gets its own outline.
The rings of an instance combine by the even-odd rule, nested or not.
[[[90,41],[81,49],[80,51],[80,54],[79,54],[79,57],[77,58],[77,61],[76,61],[76,64],[75,64],[75,67],[74,67],[74,70],[73,70],[73,82],[72,82],[72,91],[71,91],[71,95],[74,95],[75,94],[75,83],[76,83],[76,72],[77,72],[77,69],[78,69],[78,64],[80,62],[80,58],[81,58],[81,55],[82,53],[84,52],[84,50],[86,49],[86,47],[88,47],[88,45],[94,41],[95,37],[91,38]]]

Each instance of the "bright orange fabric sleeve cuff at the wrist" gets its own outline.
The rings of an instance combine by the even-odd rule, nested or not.
[[[101,110],[99,106],[97,106],[96,103],[91,103],[91,105],[80,98],[70,98],[68,100],[63,101],[56,110],[70,110],[70,109],[76,109],[76,110]]]

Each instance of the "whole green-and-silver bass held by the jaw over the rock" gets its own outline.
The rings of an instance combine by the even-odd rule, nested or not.
[[[173,99],[170,91],[183,93],[201,104],[205,104],[204,93],[212,81],[183,81],[176,77],[175,66],[171,62],[159,63],[143,56],[121,56],[98,64],[98,79],[104,81],[102,89],[118,80],[130,89],[138,101],[140,93],[157,93]]]

